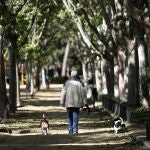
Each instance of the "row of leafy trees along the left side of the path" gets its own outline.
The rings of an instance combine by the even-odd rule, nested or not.
[[[34,78],[39,86],[40,70],[54,50],[60,49],[62,3],[57,0],[0,1],[0,116],[6,105],[15,113],[21,105],[19,64],[25,62],[27,89],[33,91]],[[59,15],[60,12],[60,15]],[[60,19],[60,20],[59,20]],[[4,56],[9,56],[9,91],[7,97]],[[36,68],[36,69],[35,69]]]

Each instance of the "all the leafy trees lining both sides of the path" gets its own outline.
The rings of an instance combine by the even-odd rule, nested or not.
[[[68,75],[82,65],[99,94],[150,106],[150,2],[148,0],[1,0],[0,115],[21,105],[18,64],[25,62],[30,93],[49,65]],[[4,55],[9,55],[9,98]],[[63,57],[64,56],[64,57]]]

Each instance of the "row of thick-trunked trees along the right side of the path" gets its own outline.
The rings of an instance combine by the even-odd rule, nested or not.
[[[94,70],[98,91],[118,97],[120,103],[149,107],[150,2],[63,0],[63,3],[88,47],[86,52],[92,53],[83,66],[92,63],[88,68]]]

